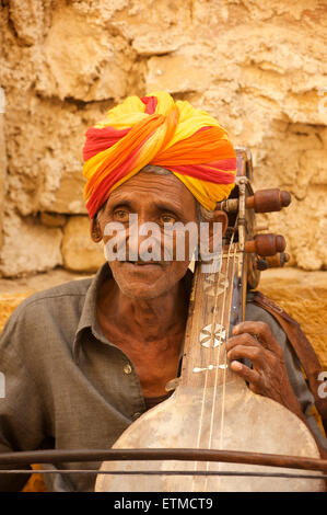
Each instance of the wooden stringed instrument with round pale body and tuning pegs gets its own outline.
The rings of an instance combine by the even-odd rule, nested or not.
[[[256,394],[229,369],[225,342],[244,320],[247,288],[255,288],[269,259],[287,261],[280,236],[256,234],[255,213],[287,207],[288,192],[250,185],[248,149],[236,149],[237,178],[231,197],[219,208],[229,214],[229,229],[219,270],[206,273],[198,263],[189,302],[182,374],[172,396],[147,411],[114,444],[114,449],[225,449],[319,458],[303,421],[278,402]],[[173,381],[174,382],[174,381]],[[176,382],[176,380],[175,380]],[[174,476],[174,471],[188,476]],[[100,471],[162,471],[144,476],[100,473],[96,492],[324,491],[320,479],[265,477],[268,466],[212,461],[104,461]],[[210,472],[226,476],[210,476]],[[168,472],[168,473],[164,473]],[[202,472],[205,474],[191,474]],[[291,472],[282,469],[282,472]]]

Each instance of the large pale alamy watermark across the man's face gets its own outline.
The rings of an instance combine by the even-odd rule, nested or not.
[[[108,262],[201,261],[201,271],[215,273],[221,267],[222,231],[220,222],[189,221],[139,225],[138,215],[130,214],[128,225],[108,222],[104,253]]]

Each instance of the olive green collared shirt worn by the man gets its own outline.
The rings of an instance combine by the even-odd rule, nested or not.
[[[107,264],[94,278],[72,281],[32,295],[10,317],[0,339],[0,451],[40,448],[109,448],[145,411],[132,363],[102,334],[96,317],[100,285],[110,277]],[[247,304],[247,320],[269,323],[285,353],[291,384],[313,431],[326,445],[314,417],[313,396],[279,324]],[[326,446],[327,448],[327,446]],[[96,469],[98,462],[57,468]],[[46,468],[55,468],[50,465]],[[49,491],[93,491],[95,474],[45,474]],[[19,491],[26,476],[1,474],[1,491]]]

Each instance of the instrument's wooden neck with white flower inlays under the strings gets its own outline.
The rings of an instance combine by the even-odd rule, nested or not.
[[[203,273],[201,265],[196,268],[179,391],[183,387],[213,387],[233,378],[225,342],[231,318],[235,318],[233,293],[237,287],[241,263],[242,256],[234,244],[223,254],[220,272]]]

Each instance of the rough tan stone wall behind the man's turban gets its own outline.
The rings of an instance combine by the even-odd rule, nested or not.
[[[84,131],[126,95],[157,89],[206,108],[250,147],[255,187],[293,195],[268,217],[287,234],[291,264],[326,267],[325,0],[1,5],[3,277],[103,262],[82,198]]]

